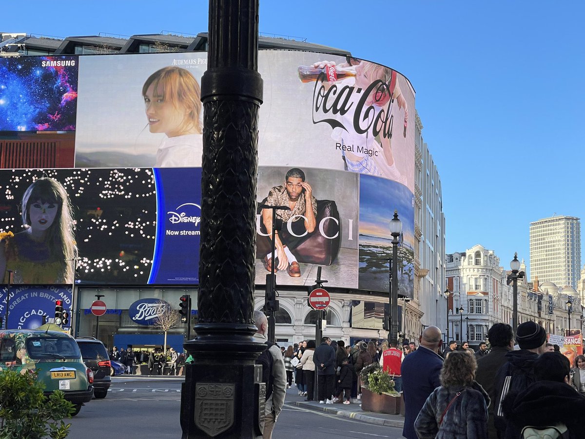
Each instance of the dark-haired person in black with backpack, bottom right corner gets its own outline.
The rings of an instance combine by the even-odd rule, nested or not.
[[[565,355],[545,352],[532,363],[536,382],[522,392],[508,393],[504,416],[521,431],[517,437],[585,437],[585,397],[569,385],[569,365]]]

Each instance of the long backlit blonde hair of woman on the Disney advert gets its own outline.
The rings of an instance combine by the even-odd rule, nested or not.
[[[41,177],[31,184],[22,196],[22,224],[30,227],[30,205],[39,201],[57,205],[53,224],[47,229],[45,243],[51,259],[59,261],[61,269],[57,276],[64,283],[73,282],[73,259],[77,257],[73,212],[67,191],[59,181]]]

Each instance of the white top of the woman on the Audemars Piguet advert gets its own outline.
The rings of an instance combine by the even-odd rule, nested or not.
[[[156,152],[155,167],[200,167],[202,155],[202,134],[165,138]]]

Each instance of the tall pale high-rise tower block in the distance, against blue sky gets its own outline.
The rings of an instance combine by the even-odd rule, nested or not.
[[[530,275],[539,282],[577,287],[581,270],[581,224],[576,217],[530,223]]]

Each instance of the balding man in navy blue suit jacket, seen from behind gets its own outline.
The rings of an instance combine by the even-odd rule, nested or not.
[[[443,359],[438,354],[442,334],[436,326],[426,328],[419,339],[419,347],[402,362],[402,391],[404,392],[404,429],[407,439],[418,439],[414,421],[433,390],[441,385],[439,373]]]

